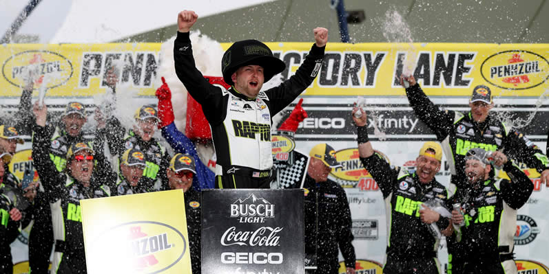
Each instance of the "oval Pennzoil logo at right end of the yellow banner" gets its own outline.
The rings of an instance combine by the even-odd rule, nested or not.
[[[549,78],[549,62],[533,52],[498,52],[482,62],[484,80],[501,89],[531,89]]]

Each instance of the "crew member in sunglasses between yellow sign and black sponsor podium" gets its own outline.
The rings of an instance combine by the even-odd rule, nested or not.
[[[189,248],[191,250],[191,268],[193,274],[200,274],[200,234],[202,232],[200,219],[200,192],[192,187],[196,175],[194,158],[188,154],[178,153],[169,162],[166,171],[169,188],[183,190],[185,196],[185,216],[187,216],[187,232],[189,233]]]

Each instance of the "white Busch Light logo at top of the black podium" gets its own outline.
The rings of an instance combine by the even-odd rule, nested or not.
[[[238,222],[262,223],[265,218],[274,218],[274,205],[250,194],[244,200],[239,198],[231,203],[231,218],[238,218]]]

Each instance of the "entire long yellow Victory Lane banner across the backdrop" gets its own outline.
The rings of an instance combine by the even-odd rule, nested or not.
[[[312,43],[267,45],[286,63],[287,79]],[[159,52],[158,43],[6,45],[0,87],[3,96],[19,96],[32,70],[35,89],[44,85],[48,97],[92,96],[105,92],[105,71],[119,63],[121,82],[154,96]],[[304,95],[404,95],[395,76],[409,71],[428,95],[469,96],[485,84],[495,96],[539,97],[549,87],[548,52],[549,44],[328,43],[324,66]]]

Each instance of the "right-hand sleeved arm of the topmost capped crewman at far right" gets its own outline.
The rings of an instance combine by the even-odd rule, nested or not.
[[[547,155],[543,155],[543,152],[532,144],[526,135],[516,130],[511,129],[507,133],[504,139],[504,152],[510,159],[526,163],[528,168],[535,168],[539,173],[549,168]]]

